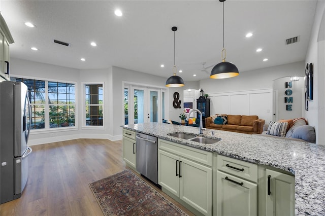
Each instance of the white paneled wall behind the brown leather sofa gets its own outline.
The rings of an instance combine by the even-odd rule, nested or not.
[[[200,87],[211,98],[211,115],[257,115],[268,123],[273,118],[273,80],[304,74],[304,62],[300,61],[240,72],[229,79],[201,80]]]

